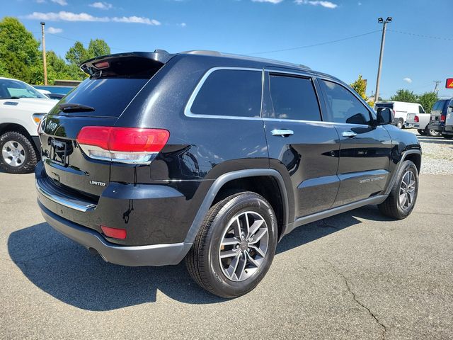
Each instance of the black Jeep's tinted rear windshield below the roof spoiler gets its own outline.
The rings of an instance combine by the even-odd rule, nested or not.
[[[59,114],[119,117],[134,96],[163,66],[160,62],[138,57],[119,59],[110,61],[109,67],[82,81],[59,102],[90,106],[94,111]]]

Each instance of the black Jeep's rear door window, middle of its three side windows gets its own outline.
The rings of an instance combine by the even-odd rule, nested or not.
[[[268,118],[321,120],[318,99],[310,78],[269,75],[271,110]]]

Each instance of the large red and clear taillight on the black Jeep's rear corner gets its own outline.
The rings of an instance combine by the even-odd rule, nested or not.
[[[163,129],[86,126],[76,141],[88,157],[122,163],[149,163],[166,145]]]

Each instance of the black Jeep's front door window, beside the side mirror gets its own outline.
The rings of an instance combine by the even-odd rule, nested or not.
[[[371,115],[351,91],[333,81],[321,80],[330,119],[334,123],[368,125]]]

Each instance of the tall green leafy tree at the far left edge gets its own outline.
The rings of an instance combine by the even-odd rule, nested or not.
[[[33,67],[39,61],[40,42],[16,18],[5,17],[0,21],[0,72],[30,82]]]

